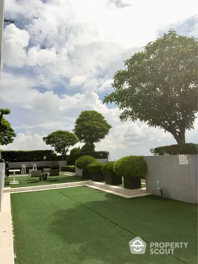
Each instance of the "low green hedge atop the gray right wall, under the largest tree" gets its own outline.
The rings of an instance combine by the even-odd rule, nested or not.
[[[170,146],[162,146],[150,149],[150,152],[156,155],[182,155],[182,154],[198,154],[198,144],[186,143],[175,144]]]

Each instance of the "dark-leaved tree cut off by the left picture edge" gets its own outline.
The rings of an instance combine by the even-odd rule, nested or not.
[[[14,141],[16,134],[4,115],[10,114],[9,109],[0,109],[0,145],[8,145]]]

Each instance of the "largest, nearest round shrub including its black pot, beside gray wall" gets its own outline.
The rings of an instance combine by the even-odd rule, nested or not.
[[[144,156],[128,156],[117,160],[113,164],[113,171],[124,177],[124,188],[141,188],[141,178],[145,176],[147,163]]]

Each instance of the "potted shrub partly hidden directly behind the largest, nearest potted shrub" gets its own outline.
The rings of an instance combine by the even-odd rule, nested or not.
[[[115,174],[113,171],[113,164],[115,161],[108,161],[101,168],[102,173],[105,176],[105,183],[111,185],[119,185],[122,184],[122,176]]]

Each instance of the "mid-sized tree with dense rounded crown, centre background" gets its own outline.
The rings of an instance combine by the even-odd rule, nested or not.
[[[89,144],[91,151],[94,151],[94,143],[100,142],[108,135],[111,125],[104,119],[104,116],[95,110],[82,111],[76,119],[74,134],[80,142]]]

